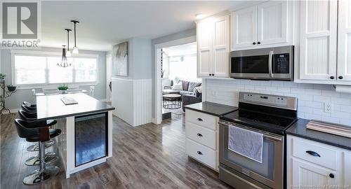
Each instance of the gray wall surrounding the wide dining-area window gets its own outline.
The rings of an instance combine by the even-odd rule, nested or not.
[[[61,48],[41,48],[41,51],[49,52],[62,52]],[[98,59],[98,85],[95,85],[96,99],[106,98],[106,52],[102,51],[91,51],[91,50],[79,50],[82,54],[95,54],[99,55]],[[1,73],[6,75],[6,85],[11,84],[11,52],[10,50],[1,50],[0,55],[0,67]],[[84,90],[89,90],[89,86],[79,86]],[[32,102],[33,101],[31,90],[18,90],[11,97],[6,99],[6,107],[8,109],[19,109],[20,104],[23,101]]]

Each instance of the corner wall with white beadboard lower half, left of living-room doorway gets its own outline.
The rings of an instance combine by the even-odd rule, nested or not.
[[[128,40],[128,76],[112,76],[114,115],[132,126],[152,120],[151,40]]]

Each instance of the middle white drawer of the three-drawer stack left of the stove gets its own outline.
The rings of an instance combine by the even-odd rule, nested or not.
[[[185,132],[187,138],[197,141],[199,144],[204,144],[207,147],[216,150],[216,132],[209,130],[206,127],[195,125],[194,123],[185,122]]]

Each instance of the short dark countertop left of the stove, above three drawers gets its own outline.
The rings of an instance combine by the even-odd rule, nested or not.
[[[197,104],[190,104],[185,106],[185,109],[193,111],[199,111],[202,113],[208,113],[213,116],[221,116],[232,111],[236,111],[238,108],[235,106],[227,106],[224,104],[217,104],[213,102],[199,102]],[[186,110],[185,110],[186,111]]]

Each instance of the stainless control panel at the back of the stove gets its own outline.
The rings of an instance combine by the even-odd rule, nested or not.
[[[259,94],[253,92],[239,92],[239,102],[274,106],[282,109],[297,109],[296,97],[285,97],[273,94]]]

